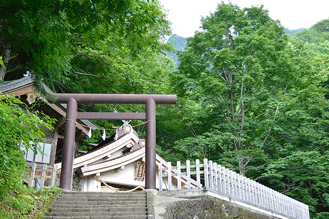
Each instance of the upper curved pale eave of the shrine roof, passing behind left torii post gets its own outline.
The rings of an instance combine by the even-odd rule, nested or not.
[[[112,154],[113,152],[125,147],[128,144],[135,144],[139,141],[139,138],[134,133],[126,134],[125,136],[119,138],[119,140],[112,142],[99,150],[84,154],[82,156],[76,157],[74,159],[74,165],[73,168],[79,168],[84,165],[88,165],[90,163],[93,163],[95,161],[98,161],[102,159],[103,157],[106,157],[109,154]],[[62,163],[57,164],[57,168],[62,168]]]

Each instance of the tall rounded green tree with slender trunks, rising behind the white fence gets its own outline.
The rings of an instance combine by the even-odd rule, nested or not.
[[[203,154],[218,149],[227,158],[234,154],[231,165],[245,174],[255,157],[265,158],[260,154],[288,90],[284,29],[262,7],[232,4],[218,5],[202,19],[202,28],[180,54],[183,92],[211,121],[200,124],[208,127],[203,138],[212,145]]]

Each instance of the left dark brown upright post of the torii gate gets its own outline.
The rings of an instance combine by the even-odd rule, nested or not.
[[[62,170],[61,170],[61,181],[60,181],[60,188],[62,189],[70,190],[72,187],[77,109],[78,109],[77,101],[72,97],[69,98],[67,101]]]

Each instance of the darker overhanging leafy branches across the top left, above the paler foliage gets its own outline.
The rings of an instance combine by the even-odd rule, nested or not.
[[[10,0],[0,6],[0,82],[29,70],[36,81],[63,82],[72,58],[125,47],[128,57],[155,48],[165,20],[157,1]],[[167,31],[162,29],[161,31]],[[6,76],[6,78],[5,78]]]

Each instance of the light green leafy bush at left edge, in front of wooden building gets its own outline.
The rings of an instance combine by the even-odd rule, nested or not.
[[[0,94],[0,201],[4,201],[22,186],[29,148],[37,150],[54,121],[42,112],[30,112],[20,99]],[[43,119],[39,118],[43,116]]]

